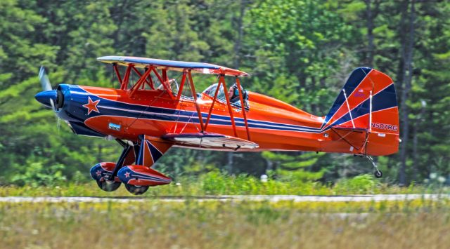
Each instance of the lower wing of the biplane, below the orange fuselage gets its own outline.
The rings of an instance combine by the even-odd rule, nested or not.
[[[162,139],[188,147],[207,149],[257,149],[255,142],[218,133],[167,133]]]

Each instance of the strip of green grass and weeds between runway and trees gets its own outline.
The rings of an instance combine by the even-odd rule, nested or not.
[[[203,196],[219,194],[295,194],[295,195],[341,195],[341,194],[450,194],[449,187],[436,185],[398,187],[380,182],[371,175],[359,175],[336,184],[304,182],[301,180],[269,180],[261,182],[255,177],[229,176],[218,172],[200,177],[181,177],[172,184],[150,187],[145,196]],[[91,180],[75,184],[59,182],[51,186],[0,187],[0,196],[130,196],[122,186],[114,192],[98,189]]]

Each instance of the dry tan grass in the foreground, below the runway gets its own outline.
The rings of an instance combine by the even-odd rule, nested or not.
[[[0,204],[1,248],[448,248],[450,203]]]

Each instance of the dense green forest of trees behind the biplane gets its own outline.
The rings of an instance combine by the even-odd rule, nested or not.
[[[40,65],[53,87],[113,86],[111,68],[96,61],[104,55],[238,68],[251,74],[248,90],[318,116],[354,68],[374,67],[394,80],[401,119],[399,153],[378,158],[383,181],[450,184],[448,1],[2,0],[0,184],[86,182],[91,166],[116,161],[119,144],[72,134],[34,100]],[[325,184],[372,172],[342,154],[176,148],[155,167],[175,180],[221,170]]]

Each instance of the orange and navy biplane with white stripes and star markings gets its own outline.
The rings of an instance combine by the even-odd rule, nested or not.
[[[116,162],[91,168],[105,191],[123,183],[131,194],[143,194],[150,186],[169,184],[171,178],[152,166],[171,147],[354,154],[371,161],[376,177],[382,173],[371,156],[398,151],[394,83],[375,69],[355,69],[328,114],[315,116],[245,90],[240,79],[249,74],[237,69],[127,56],[97,60],[112,66],[117,88],[60,84],[53,90],[41,67],[44,91],[35,98],[73,133],[113,138],[123,147]],[[169,72],[179,74],[181,81],[171,79]],[[215,80],[198,92],[193,74],[214,74]]]

